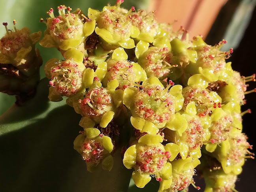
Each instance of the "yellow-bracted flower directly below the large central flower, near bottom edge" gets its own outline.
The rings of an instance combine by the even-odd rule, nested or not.
[[[157,181],[164,182],[171,179],[171,164],[179,153],[174,143],[162,145],[162,136],[146,134],[139,141],[129,147],[124,153],[123,163],[128,169],[134,168],[132,178],[137,187],[143,188],[154,175]]]

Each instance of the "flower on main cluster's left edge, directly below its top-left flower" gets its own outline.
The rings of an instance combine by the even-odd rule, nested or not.
[[[62,100],[62,96],[75,95],[85,87],[83,53],[72,48],[64,56],[67,60],[53,58],[45,64],[45,75],[51,79],[48,98],[55,102]]]

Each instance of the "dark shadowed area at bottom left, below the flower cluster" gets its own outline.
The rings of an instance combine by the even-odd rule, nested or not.
[[[1,192],[125,192],[131,170],[120,151],[113,169],[88,173],[73,149],[81,116],[68,105],[53,109],[45,119],[0,137]]]

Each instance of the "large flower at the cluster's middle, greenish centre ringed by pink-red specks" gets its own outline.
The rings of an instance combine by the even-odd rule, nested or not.
[[[142,89],[126,88],[124,90],[124,105],[132,112],[131,123],[141,132],[156,134],[159,128],[163,128],[179,110],[183,103],[179,89],[173,89],[160,83],[156,77],[150,77],[142,83]],[[176,105],[177,103],[177,105]]]

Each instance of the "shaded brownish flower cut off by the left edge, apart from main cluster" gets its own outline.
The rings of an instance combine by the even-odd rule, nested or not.
[[[34,95],[40,80],[39,68],[43,64],[40,52],[35,44],[41,38],[41,31],[30,34],[26,27],[8,29],[3,23],[6,35],[0,39],[0,92],[16,95],[16,104],[23,104]]]

